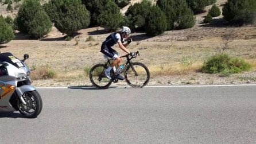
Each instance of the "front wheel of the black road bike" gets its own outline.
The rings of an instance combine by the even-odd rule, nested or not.
[[[125,79],[131,87],[142,88],[149,82],[149,69],[142,63],[131,63],[125,69]]]

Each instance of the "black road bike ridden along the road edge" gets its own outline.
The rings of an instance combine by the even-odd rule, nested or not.
[[[131,59],[134,59],[137,56],[139,56],[138,51],[136,52],[135,56],[131,56],[129,54],[121,56],[126,57],[127,61],[119,73],[124,73],[125,80],[131,87],[142,88],[148,84],[150,73],[145,64],[131,61]],[[113,61],[113,59],[108,57],[105,64],[96,64],[91,68],[90,80],[96,88],[106,89],[111,85],[112,82],[118,82],[118,75],[115,75],[113,70],[110,71],[111,79],[108,79],[104,74],[104,69],[111,64],[111,61]]]

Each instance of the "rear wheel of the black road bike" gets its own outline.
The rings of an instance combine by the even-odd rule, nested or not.
[[[96,64],[94,67],[91,68],[90,71],[90,80],[91,83],[100,89],[106,89],[110,86],[112,81],[108,79],[104,74],[105,69],[104,64]]]

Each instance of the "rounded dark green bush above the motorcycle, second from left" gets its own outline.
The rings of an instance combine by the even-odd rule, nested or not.
[[[52,23],[37,0],[25,0],[15,20],[21,33],[31,34],[32,37],[42,37],[49,33]]]

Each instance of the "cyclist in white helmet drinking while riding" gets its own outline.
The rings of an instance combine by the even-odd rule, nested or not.
[[[120,67],[120,65],[122,64],[122,59],[119,57],[118,52],[114,50],[111,46],[118,44],[119,48],[121,48],[124,52],[130,54],[131,56],[136,55],[136,53],[130,53],[129,50],[126,49],[126,47],[133,41],[129,37],[130,33],[130,28],[128,28],[127,26],[123,26],[119,32],[111,33],[102,43],[100,52],[108,57],[111,57],[114,60],[107,69],[104,69],[104,73],[108,79],[111,79],[111,69],[113,69],[113,71],[117,74],[117,69],[115,68],[115,65],[118,65],[118,67]],[[126,44],[124,44],[125,41],[127,41]],[[118,75],[118,79],[124,80],[125,77]]]

